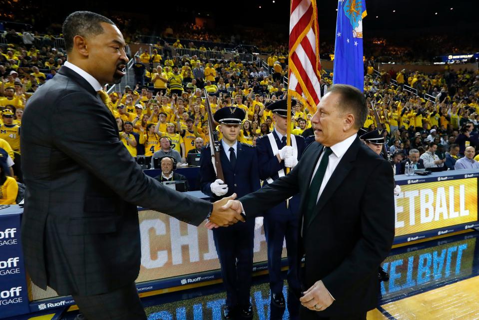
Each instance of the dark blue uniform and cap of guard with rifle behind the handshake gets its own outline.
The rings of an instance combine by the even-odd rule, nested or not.
[[[215,114],[215,120],[223,123],[235,123],[244,119],[244,110],[234,107],[223,107]],[[227,118],[229,120],[221,121]],[[226,155],[224,145],[220,140],[221,166],[224,182],[228,185],[228,192],[224,196],[216,196],[210,186],[216,178],[211,161],[209,145],[203,148],[200,158],[201,191],[214,201],[236,193],[238,198],[254,192],[260,188],[258,175],[258,159],[253,146],[236,142],[236,159],[233,166]],[[245,223],[236,223],[228,228],[213,229],[213,237],[221,263],[223,283],[226,288],[226,307],[233,313],[239,314],[250,306],[251,277],[253,269],[254,219],[246,219]],[[252,309],[251,309],[252,311]],[[243,315],[244,316],[244,315]],[[251,314],[252,317],[252,314]]]

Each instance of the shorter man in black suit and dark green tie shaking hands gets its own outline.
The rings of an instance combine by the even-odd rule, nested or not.
[[[394,238],[394,180],[357,138],[367,114],[358,89],[333,85],[312,118],[318,143],[288,175],[225,206],[253,219],[300,193],[302,320],[366,320],[377,306],[378,268]]]

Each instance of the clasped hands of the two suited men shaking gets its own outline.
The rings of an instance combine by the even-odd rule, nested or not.
[[[234,199],[236,199],[236,193],[214,202],[213,211],[211,212],[211,216],[205,227],[213,229],[218,227],[228,227],[234,225],[238,221],[245,222],[244,217],[241,215],[243,212],[243,206],[241,205],[241,202]]]

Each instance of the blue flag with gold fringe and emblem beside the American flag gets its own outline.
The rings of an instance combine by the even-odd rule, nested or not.
[[[363,18],[366,0],[338,0],[333,83],[364,91]]]

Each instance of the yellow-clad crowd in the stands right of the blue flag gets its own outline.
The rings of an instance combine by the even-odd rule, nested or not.
[[[378,77],[370,70],[365,76],[365,94],[371,105],[365,129],[371,131],[378,126],[374,105],[393,162],[410,161],[413,150],[423,159],[425,168],[463,168],[465,160],[455,164],[465,156],[472,159],[471,166],[479,167],[477,70],[455,71],[446,65],[444,71],[432,74],[390,70]],[[391,79],[398,85],[392,85]],[[417,94],[405,85],[416,89]]]

